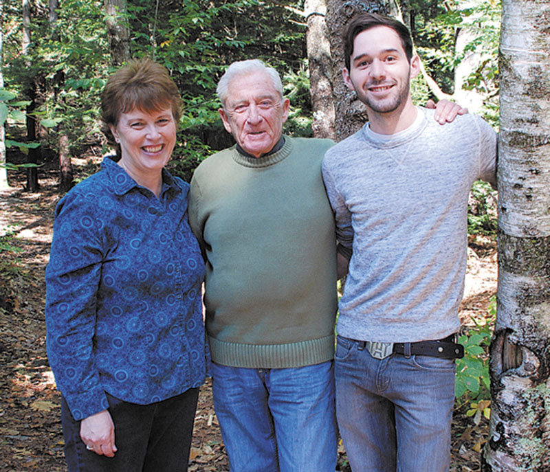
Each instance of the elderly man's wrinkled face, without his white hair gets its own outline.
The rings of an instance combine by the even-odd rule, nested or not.
[[[230,82],[225,109],[219,109],[225,129],[254,157],[269,153],[283,134],[289,100],[281,99],[265,72],[238,76]]]

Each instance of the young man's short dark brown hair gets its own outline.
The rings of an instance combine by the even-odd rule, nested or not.
[[[365,30],[370,30],[375,26],[387,26],[397,33],[401,39],[403,49],[405,49],[407,60],[410,63],[410,59],[412,58],[412,38],[410,38],[410,32],[407,27],[401,21],[397,21],[389,16],[377,13],[361,13],[349,22],[344,34],[344,60],[346,61],[346,68],[348,70],[351,66],[349,58],[353,54],[353,42],[355,38],[358,34]]]

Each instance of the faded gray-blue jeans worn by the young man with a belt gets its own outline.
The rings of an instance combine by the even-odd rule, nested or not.
[[[454,359],[375,359],[359,341],[337,342],[336,414],[351,469],[448,471]]]

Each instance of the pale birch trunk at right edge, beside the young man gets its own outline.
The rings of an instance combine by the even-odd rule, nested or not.
[[[549,12],[549,0],[503,0],[498,311],[484,472],[550,470]]]

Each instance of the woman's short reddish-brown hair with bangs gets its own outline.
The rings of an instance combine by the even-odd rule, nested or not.
[[[131,60],[107,80],[101,92],[101,131],[107,142],[120,149],[109,126],[116,126],[122,113],[140,109],[147,113],[170,107],[177,124],[181,98],[166,67],[149,58]]]

